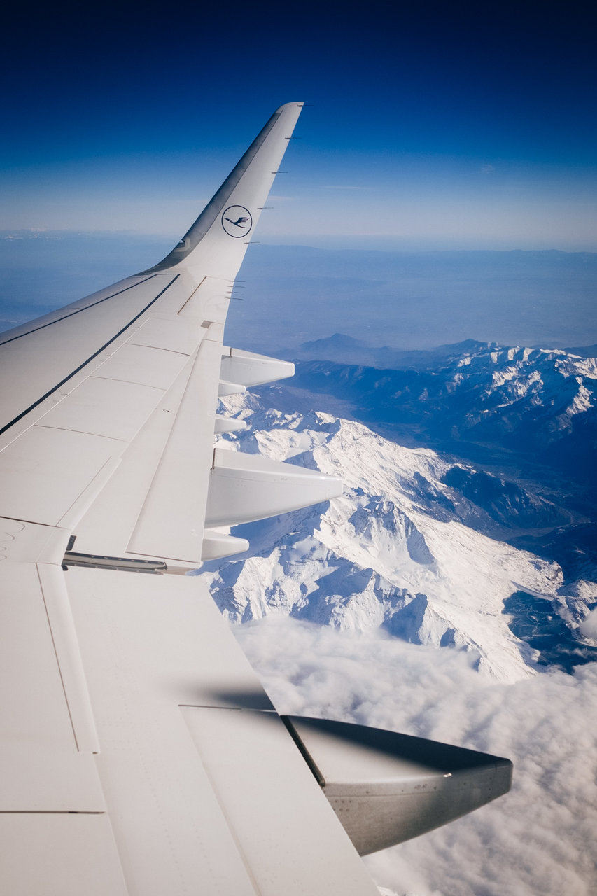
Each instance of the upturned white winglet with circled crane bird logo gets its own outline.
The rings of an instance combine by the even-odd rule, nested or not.
[[[151,273],[209,259],[216,276],[236,275],[302,107],[295,102],[276,109],[195,224]]]

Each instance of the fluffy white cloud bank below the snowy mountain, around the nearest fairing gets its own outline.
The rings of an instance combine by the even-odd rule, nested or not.
[[[356,721],[515,763],[512,791],[368,858],[403,896],[590,896],[597,891],[597,664],[515,684],[463,653],[291,619],[235,630],[280,711]]]

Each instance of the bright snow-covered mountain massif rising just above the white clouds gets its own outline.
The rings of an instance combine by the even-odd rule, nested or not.
[[[558,508],[545,499],[431,450],[389,442],[355,421],[284,414],[251,395],[231,397],[225,408],[250,424],[227,437],[230,450],[262,452],[345,482],[331,504],[239,527],[251,551],[203,566],[232,620],[278,614],[343,630],[381,629],[465,650],[477,668],[506,681],[532,676],[538,656],[504,613],[513,594],[550,596],[560,622],[577,634],[597,586],[567,589],[558,564],[495,538],[508,514],[557,519]],[[483,495],[489,488],[485,505],[472,488],[475,477]]]

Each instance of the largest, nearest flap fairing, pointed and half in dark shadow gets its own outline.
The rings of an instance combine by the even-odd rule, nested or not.
[[[361,856],[460,818],[512,783],[508,759],[345,722],[285,721]]]

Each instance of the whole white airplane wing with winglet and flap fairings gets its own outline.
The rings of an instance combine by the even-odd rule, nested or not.
[[[12,896],[373,894],[359,853],[509,786],[493,756],[282,719],[183,574],[247,549],[230,525],[342,492],[213,447],[236,425],[218,394],[293,372],[223,346],[223,326],[301,106],[273,114],[161,263],[0,335]]]

